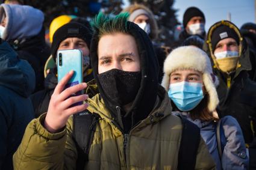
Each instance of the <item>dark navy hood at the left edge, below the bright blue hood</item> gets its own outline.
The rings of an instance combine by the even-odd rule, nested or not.
[[[0,51],[0,85],[20,96],[30,96],[36,85],[33,68],[27,61],[19,59],[8,43],[0,44]]]

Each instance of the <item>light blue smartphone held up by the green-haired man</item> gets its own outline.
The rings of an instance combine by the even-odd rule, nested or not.
[[[73,76],[67,82],[65,89],[78,85],[83,82],[83,54],[79,49],[72,50],[58,50],[57,51],[57,73],[58,82],[66,76],[69,71],[73,70]],[[80,96],[83,90],[78,91],[72,96]],[[70,96],[71,97],[71,96]],[[72,106],[81,105],[83,102],[75,103]]]

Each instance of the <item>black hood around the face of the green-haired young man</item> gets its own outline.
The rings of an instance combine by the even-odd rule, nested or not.
[[[126,115],[133,117],[133,125],[138,121],[143,120],[152,111],[155,100],[157,98],[157,87],[158,87],[158,72],[159,65],[157,56],[155,55],[151,40],[143,29],[133,22],[127,22],[128,34],[132,35],[139,50],[140,55],[140,68],[142,78],[140,82],[140,88],[137,96],[134,99],[133,105],[130,108],[130,112]],[[104,91],[102,90],[101,84],[98,79],[98,33],[97,30],[93,35],[91,46],[90,46],[90,58],[92,61],[93,74],[98,85],[99,93],[102,99],[113,116],[114,120],[122,124],[122,120],[118,119],[119,113],[116,109],[119,104],[113,100],[108,99]],[[119,106],[120,107],[120,106]],[[132,126],[133,126],[132,125]]]

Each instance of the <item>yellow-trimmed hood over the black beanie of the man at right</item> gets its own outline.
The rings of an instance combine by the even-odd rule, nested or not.
[[[249,48],[246,44],[246,41],[240,34],[239,29],[237,28],[236,25],[233,23],[227,21],[227,20],[222,20],[220,22],[214,23],[214,25],[211,26],[211,28],[208,31],[207,38],[205,40],[203,49],[205,52],[207,52],[208,56],[211,56],[211,62],[213,64],[213,68],[218,68],[215,56],[213,54],[213,47],[211,46],[211,35],[213,34],[214,29],[216,29],[219,26],[226,25],[229,26],[230,28],[233,28],[234,31],[236,31],[237,35],[239,36],[239,62],[237,64],[236,68],[236,74],[235,77],[242,71],[242,70],[251,70],[251,62],[249,58]],[[218,70],[220,70],[218,68]]]

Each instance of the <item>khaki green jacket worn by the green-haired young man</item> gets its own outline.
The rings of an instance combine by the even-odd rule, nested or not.
[[[111,123],[111,115],[99,94],[88,99],[88,110],[99,114],[96,132],[84,169],[177,169],[182,124],[171,115],[170,100],[158,93],[154,111],[134,127],[129,135]],[[156,113],[164,117],[155,117]],[[75,169],[77,151],[72,139],[72,117],[66,129],[49,133],[42,122],[45,115],[28,124],[22,143],[13,156],[14,169]],[[123,149],[127,137],[126,155]],[[201,139],[195,169],[215,169],[213,159]]]

